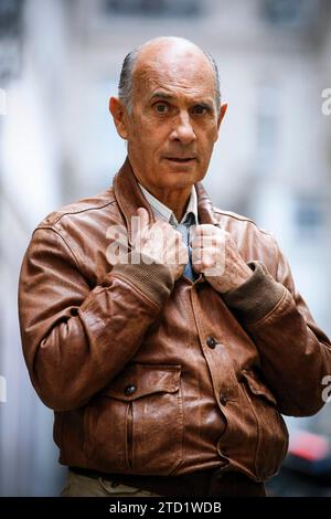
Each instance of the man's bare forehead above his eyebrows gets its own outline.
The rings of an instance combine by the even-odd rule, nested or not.
[[[137,61],[134,89],[142,97],[159,89],[192,98],[214,97],[215,76],[203,53],[143,55]]]

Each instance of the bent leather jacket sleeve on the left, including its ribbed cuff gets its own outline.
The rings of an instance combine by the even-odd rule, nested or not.
[[[167,267],[140,264],[115,266],[92,288],[62,235],[34,231],[21,268],[19,317],[42,401],[70,411],[107,385],[139,349],[172,286]]]

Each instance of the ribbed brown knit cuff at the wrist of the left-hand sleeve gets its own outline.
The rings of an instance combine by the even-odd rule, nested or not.
[[[129,254],[128,263],[118,263],[114,266],[111,274],[125,277],[150,299],[162,306],[171,294],[174,280],[168,266],[150,262],[149,256],[141,254],[141,262],[131,264],[131,254]]]

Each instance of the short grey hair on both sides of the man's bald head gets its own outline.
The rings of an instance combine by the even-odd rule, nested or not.
[[[142,49],[143,45],[140,45],[134,51],[129,52],[126,57],[124,59],[122,65],[121,65],[121,71],[120,71],[120,76],[119,76],[119,83],[118,83],[118,97],[124,102],[126,105],[128,112],[130,113],[132,110],[132,76],[134,76],[134,70],[135,65],[137,62],[137,59],[139,56],[139,52]],[[215,91],[216,91],[216,108],[217,112],[220,112],[221,108],[221,86],[220,86],[220,75],[218,75],[218,68],[217,64],[214,60],[214,57],[206,51],[202,50],[206,59],[209,60],[213,71],[214,71],[214,76],[215,76]]]

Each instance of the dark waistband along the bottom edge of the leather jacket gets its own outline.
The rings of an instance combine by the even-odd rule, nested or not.
[[[141,476],[102,473],[81,467],[70,469],[82,476],[103,478],[161,496],[266,496],[263,483],[256,483],[238,472],[210,469],[180,476]]]

